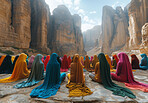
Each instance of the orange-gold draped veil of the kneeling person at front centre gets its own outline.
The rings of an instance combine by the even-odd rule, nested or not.
[[[80,63],[78,54],[75,54],[70,69],[70,83],[66,85],[69,88],[69,97],[79,97],[92,94],[90,89],[85,86],[85,78],[83,76],[83,66]]]

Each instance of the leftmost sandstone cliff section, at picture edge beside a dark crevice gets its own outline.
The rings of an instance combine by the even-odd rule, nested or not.
[[[19,35],[11,25],[11,7],[11,0],[0,0],[0,46],[19,46]]]

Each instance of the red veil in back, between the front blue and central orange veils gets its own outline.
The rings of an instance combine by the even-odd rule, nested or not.
[[[61,72],[67,72],[68,68],[69,68],[69,65],[68,65],[67,55],[64,55],[62,59]]]

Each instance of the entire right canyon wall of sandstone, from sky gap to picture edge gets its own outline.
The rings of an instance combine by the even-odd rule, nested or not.
[[[141,53],[147,54],[147,22],[148,0],[132,0],[124,10],[121,7],[113,9],[104,6],[102,34],[98,33],[99,46],[94,50],[96,53],[107,54],[118,50],[140,50]]]

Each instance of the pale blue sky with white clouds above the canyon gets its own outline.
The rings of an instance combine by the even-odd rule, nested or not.
[[[102,23],[103,6],[109,5],[114,9],[117,6],[124,8],[131,0],[45,0],[49,5],[50,12],[58,6],[65,5],[71,14],[81,16],[82,32]]]

